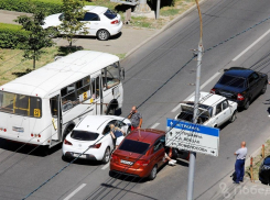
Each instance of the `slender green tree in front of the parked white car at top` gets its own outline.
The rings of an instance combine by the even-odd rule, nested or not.
[[[85,23],[79,21],[86,13],[83,8],[83,0],[63,0],[63,20],[57,29],[67,40],[69,47],[72,47],[73,38],[77,32],[84,35],[88,33],[87,29],[84,27]]]

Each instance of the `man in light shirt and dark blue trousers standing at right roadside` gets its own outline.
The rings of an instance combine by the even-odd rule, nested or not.
[[[248,149],[246,147],[246,142],[241,142],[241,147],[235,152],[235,155],[236,155],[236,164],[235,164],[236,180],[235,180],[235,184],[239,184],[239,181],[242,182],[242,180],[244,180],[245,160],[246,160],[247,153],[248,153]]]

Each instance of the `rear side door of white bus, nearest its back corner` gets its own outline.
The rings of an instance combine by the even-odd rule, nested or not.
[[[50,99],[52,113],[52,140],[60,142],[62,140],[62,103],[60,96]]]

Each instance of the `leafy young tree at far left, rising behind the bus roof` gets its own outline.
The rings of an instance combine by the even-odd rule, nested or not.
[[[44,10],[34,9],[32,16],[21,15],[14,20],[22,25],[22,29],[29,32],[29,35],[23,38],[22,43],[24,49],[23,57],[24,59],[33,59],[33,68],[35,68],[35,62],[45,53],[42,48],[51,47],[55,44],[50,37],[53,34],[53,30],[43,30],[41,26],[44,24]]]

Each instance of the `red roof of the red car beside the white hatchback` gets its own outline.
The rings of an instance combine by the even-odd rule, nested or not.
[[[161,130],[153,130],[153,129],[140,129],[140,130],[132,131],[129,135],[126,136],[126,138],[152,144],[161,135],[165,135],[165,132]]]

